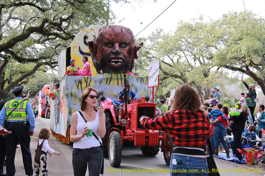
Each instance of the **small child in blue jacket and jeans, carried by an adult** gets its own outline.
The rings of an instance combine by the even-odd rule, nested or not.
[[[215,120],[218,116],[222,116],[223,119],[225,121],[227,121],[226,117],[223,115],[223,112],[221,111],[223,105],[221,103],[217,103],[216,104],[217,108],[213,109],[209,114],[208,114],[208,117],[209,119],[211,119],[211,116],[212,116],[212,121]],[[224,143],[228,143],[228,141],[226,140],[226,127],[223,125],[223,123],[221,122],[216,122],[216,123],[213,123],[214,126],[218,126],[219,128],[221,128],[221,131],[222,131],[222,135],[223,135],[223,141]]]

